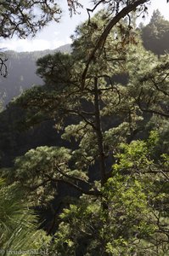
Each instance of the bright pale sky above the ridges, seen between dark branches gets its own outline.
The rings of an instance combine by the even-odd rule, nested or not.
[[[61,45],[70,44],[70,35],[76,29],[76,26],[81,24],[84,20],[87,20],[86,8],[90,6],[91,1],[81,0],[83,9],[80,10],[80,15],[73,15],[70,18],[67,1],[58,0],[59,5],[63,10],[62,18],[59,23],[51,22],[48,26],[44,27],[41,32],[37,32],[35,38],[26,39],[6,39],[1,41],[1,48],[12,49],[18,52],[21,51],[34,51],[43,49],[56,49]],[[149,15],[144,20],[145,23],[149,22],[149,19],[154,9],[159,9],[161,14],[169,20],[169,3],[166,0],[151,0],[149,6]]]

